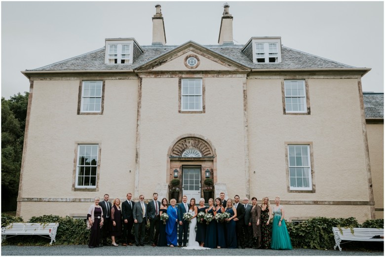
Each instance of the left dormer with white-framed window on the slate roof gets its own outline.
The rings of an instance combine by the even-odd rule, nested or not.
[[[106,38],[105,64],[132,64],[141,53],[134,38]]]

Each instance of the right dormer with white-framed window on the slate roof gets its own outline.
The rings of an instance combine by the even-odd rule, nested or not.
[[[252,37],[242,52],[253,63],[280,63],[281,37]]]

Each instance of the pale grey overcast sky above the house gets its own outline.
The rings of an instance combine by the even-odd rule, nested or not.
[[[29,91],[20,73],[104,46],[105,38],[152,43],[161,4],[167,45],[218,44],[225,1],[1,2],[1,96]],[[284,46],[372,70],[363,91],[384,92],[384,2],[228,1],[235,44],[279,36]]]

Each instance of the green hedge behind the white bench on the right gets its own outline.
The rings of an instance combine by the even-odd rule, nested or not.
[[[384,228],[384,220],[366,220],[360,225],[356,219],[316,217],[299,224],[287,222],[287,228],[293,247],[309,249],[333,249],[333,227],[372,227]]]

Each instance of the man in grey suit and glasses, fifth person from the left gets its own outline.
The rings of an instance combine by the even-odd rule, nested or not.
[[[136,246],[144,246],[144,238],[146,234],[147,224],[147,203],[144,203],[144,195],[139,195],[139,202],[134,204],[132,210],[132,216],[134,217],[134,229],[135,229],[135,244]],[[140,234],[140,237],[139,237]]]

